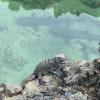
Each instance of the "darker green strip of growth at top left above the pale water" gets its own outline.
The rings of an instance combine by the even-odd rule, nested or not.
[[[46,9],[61,0],[2,0],[2,1],[9,2],[9,8],[11,10],[16,11],[20,7],[24,8],[25,10]]]

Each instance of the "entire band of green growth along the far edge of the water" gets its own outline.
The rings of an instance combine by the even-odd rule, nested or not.
[[[100,0],[2,0],[9,2],[9,8],[18,11],[20,7],[25,10],[46,9],[53,7],[55,16],[71,12],[75,15],[88,13],[100,16]]]

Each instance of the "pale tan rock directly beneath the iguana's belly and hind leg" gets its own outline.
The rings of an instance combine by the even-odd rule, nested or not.
[[[59,85],[57,84],[55,78],[53,78],[52,76],[44,76],[43,81],[46,82],[45,85],[39,85],[37,80],[28,82],[25,85],[26,88],[23,92],[23,95],[27,97],[34,97],[36,95],[52,96],[56,92],[61,92],[59,90]]]

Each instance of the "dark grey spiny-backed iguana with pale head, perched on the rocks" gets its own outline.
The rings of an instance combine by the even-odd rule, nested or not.
[[[47,73],[52,73],[53,71],[58,71],[58,69],[62,69],[64,67],[65,60],[65,56],[63,54],[59,54],[52,59],[40,62],[36,66],[34,72],[21,82],[22,88],[24,89],[25,84],[34,79],[38,79],[39,84],[43,84],[42,76]]]

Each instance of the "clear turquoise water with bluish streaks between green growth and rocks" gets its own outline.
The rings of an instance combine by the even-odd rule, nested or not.
[[[64,53],[72,60],[99,57],[100,19],[70,13],[54,17],[53,9],[8,9],[0,2],[0,82],[19,84],[36,64]]]

